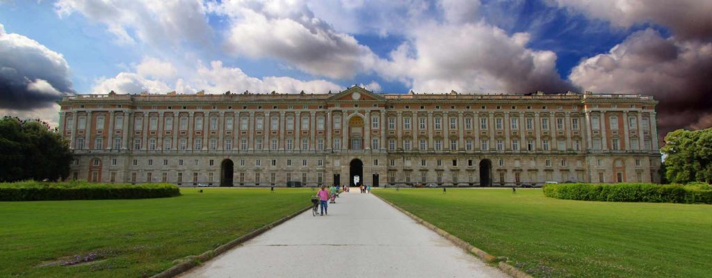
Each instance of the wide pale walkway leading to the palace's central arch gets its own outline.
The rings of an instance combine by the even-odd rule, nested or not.
[[[308,201],[308,200],[307,200]],[[508,277],[358,189],[182,277]]]

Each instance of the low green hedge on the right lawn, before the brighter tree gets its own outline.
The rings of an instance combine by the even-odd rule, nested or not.
[[[560,183],[546,184],[543,191],[547,197],[567,200],[712,204],[712,187],[698,184]]]

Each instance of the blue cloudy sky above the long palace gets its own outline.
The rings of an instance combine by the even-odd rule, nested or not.
[[[708,0],[0,0],[0,115],[66,95],[635,93],[712,126]]]

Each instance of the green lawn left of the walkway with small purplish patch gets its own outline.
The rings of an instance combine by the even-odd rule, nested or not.
[[[147,277],[310,205],[310,189],[182,188],[142,200],[0,202],[0,277]],[[42,264],[98,255],[90,264]]]

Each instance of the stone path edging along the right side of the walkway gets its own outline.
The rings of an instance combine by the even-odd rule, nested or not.
[[[501,269],[504,273],[508,274],[511,277],[514,278],[533,278],[531,275],[527,274],[526,272],[523,272],[521,269],[518,269],[514,267],[511,264],[507,264],[506,257],[494,257],[493,255],[489,255],[487,252],[484,252],[483,250],[479,249],[478,247],[474,247],[473,245],[469,244],[468,242],[461,240],[459,237],[456,237],[454,235],[451,235],[449,232],[446,232],[445,230],[438,228],[436,225],[432,225],[426,220],[423,220],[422,218],[419,218],[417,215],[414,215],[413,213],[410,213],[408,210],[404,210],[403,208],[399,207],[398,205],[395,205],[394,203],[391,203],[390,201],[382,198],[381,196],[378,196],[376,194],[372,194],[373,196],[376,196],[376,198],[379,198],[381,201],[384,201],[385,203],[391,205],[393,208],[399,210],[401,213],[404,213],[405,215],[408,215],[409,218],[412,218],[415,220],[415,222],[424,225],[426,228],[433,230],[436,232],[438,235],[441,237],[444,237],[446,240],[449,240],[452,242],[455,246],[460,247],[460,249],[464,250],[465,252],[471,253],[478,257],[480,260],[483,260],[484,262],[487,263],[497,263],[497,267]]]

